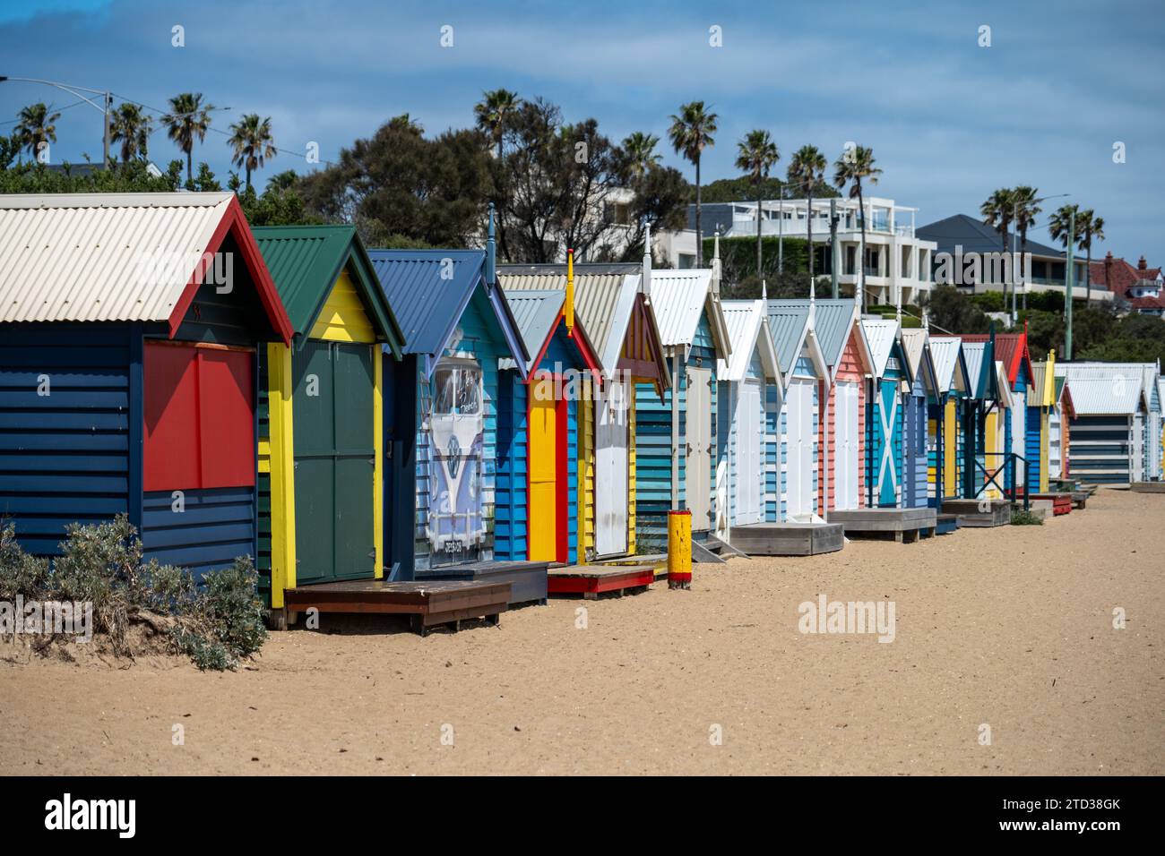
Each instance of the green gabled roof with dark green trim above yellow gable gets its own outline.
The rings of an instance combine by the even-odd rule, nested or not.
[[[401,355],[404,337],[354,226],[263,226],[252,232],[297,335],[315,326],[347,268],[377,338]]]

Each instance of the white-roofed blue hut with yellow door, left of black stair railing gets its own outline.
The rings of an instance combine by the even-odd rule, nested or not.
[[[927,399],[927,497],[933,508],[962,496],[965,433],[961,410],[970,392],[962,340],[931,335],[937,389]]]

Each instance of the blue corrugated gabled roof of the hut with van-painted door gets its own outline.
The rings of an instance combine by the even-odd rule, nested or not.
[[[423,356],[426,375],[432,374],[479,288],[485,290],[510,355],[524,369],[530,354],[501,290],[485,282],[483,250],[370,249],[368,257],[401,325],[404,353]]]

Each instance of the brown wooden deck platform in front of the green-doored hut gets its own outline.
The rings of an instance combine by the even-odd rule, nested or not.
[[[508,582],[353,580],[290,588],[283,602],[289,613],[313,607],[320,613],[403,614],[410,616],[412,629],[425,636],[437,624],[460,630],[466,618],[487,618],[497,624],[509,596]]]

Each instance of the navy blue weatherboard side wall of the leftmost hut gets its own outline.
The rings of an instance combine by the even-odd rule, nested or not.
[[[141,401],[140,327],[0,325],[0,519],[24,550],[59,553],[71,522],[141,523]]]

